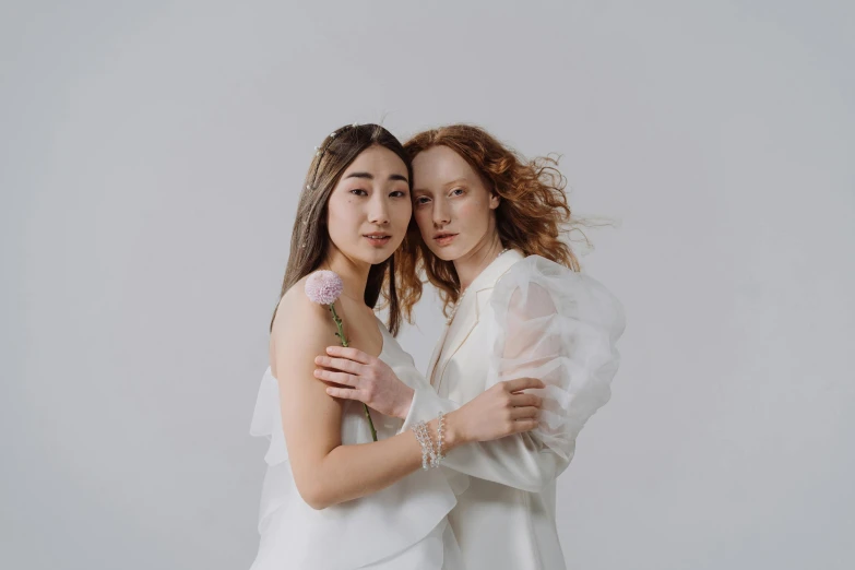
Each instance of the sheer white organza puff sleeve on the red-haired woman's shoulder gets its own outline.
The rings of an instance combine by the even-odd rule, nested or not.
[[[537,378],[544,399],[534,438],[572,459],[585,421],[610,396],[624,332],[620,301],[597,281],[539,256],[506,273],[490,298],[496,320],[487,388]]]

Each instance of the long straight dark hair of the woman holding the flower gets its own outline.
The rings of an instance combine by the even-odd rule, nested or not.
[[[295,283],[318,270],[323,262],[330,247],[330,233],[326,229],[326,204],[330,194],[356,157],[375,145],[389,149],[404,162],[412,190],[413,167],[409,156],[401,142],[384,128],[379,124],[353,124],[336,129],[328,135],[309,165],[306,182],[302,185],[280,300]],[[401,328],[401,307],[395,290],[394,256],[371,265],[368,271],[365,304],[371,308],[377,307],[380,295],[389,302],[389,331],[397,334]],[[276,306],[278,307],[278,302]],[[274,309],[271,330],[275,318]]]

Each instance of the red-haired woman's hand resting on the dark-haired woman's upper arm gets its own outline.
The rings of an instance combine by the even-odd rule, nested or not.
[[[406,418],[414,390],[402,382],[384,361],[356,348],[328,346],[318,356],[314,378],[332,384],[333,397],[356,400],[387,416]]]

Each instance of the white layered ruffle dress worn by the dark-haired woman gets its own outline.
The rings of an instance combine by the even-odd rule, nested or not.
[[[429,389],[381,321],[380,359],[415,390]],[[460,551],[447,514],[456,503],[439,470],[417,471],[373,495],[322,510],[309,507],[292,476],[282,430],[278,382],[268,368],[250,434],[270,438],[261,496],[261,542],[251,570],[460,570]],[[342,443],[368,443],[363,404],[347,401]],[[393,437],[397,418],[371,413],[378,439]],[[460,479],[458,479],[460,480]],[[463,485],[465,487],[465,484]]]

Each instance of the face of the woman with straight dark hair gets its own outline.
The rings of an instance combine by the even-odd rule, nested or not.
[[[342,174],[330,194],[326,227],[342,253],[369,264],[389,259],[404,239],[413,204],[404,162],[371,146]]]

